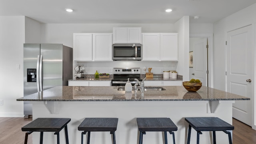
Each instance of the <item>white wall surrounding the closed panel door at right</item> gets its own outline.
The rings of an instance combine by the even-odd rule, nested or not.
[[[243,10],[240,10],[216,23],[214,23],[214,88],[226,90],[226,34],[231,30],[235,30],[252,24],[253,38],[252,42],[252,128],[256,129],[256,98],[255,98],[255,76],[256,76],[256,4],[253,4]]]

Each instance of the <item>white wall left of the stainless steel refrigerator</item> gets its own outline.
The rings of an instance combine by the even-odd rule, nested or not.
[[[25,17],[0,16],[0,117],[23,117]],[[20,65],[20,69],[16,68]]]

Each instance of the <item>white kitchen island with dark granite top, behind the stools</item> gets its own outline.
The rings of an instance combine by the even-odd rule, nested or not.
[[[183,86],[162,86],[163,90],[144,92],[125,92],[118,86],[57,86],[42,92],[31,94],[17,101],[30,101],[33,104],[33,119],[71,118],[68,124],[70,144],[81,143],[79,124],[84,118],[118,118],[116,142],[118,144],[137,144],[138,128],[136,118],[167,117],[178,126],[175,132],[177,144],[184,144],[187,138],[188,124],[184,117],[219,117],[232,124],[232,103],[235,100],[249,98],[230,94],[202,86],[197,92],[188,92]],[[151,87],[152,88],[152,87]],[[45,133],[44,142],[54,144],[56,136]],[[228,144],[228,136],[216,132],[218,144]],[[40,133],[33,133],[33,142],[37,143]],[[64,131],[60,132],[60,143],[64,143]],[[203,132],[200,143],[210,144],[211,135]],[[168,141],[172,136],[168,135]],[[112,144],[109,132],[92,132],[92,144]],[[145,144],[162,144],[162,132],[146,132]],[[84,142],[85,143],[85,142]],[[191,143],[196,143],[196,132],[192,130]]]

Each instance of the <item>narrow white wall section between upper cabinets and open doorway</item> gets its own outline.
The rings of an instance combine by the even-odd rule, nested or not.
[[[175,23],[178,32],[178,65],[177,72],[183,76],[183,81],[189,80],[189,16],[183,16]]]

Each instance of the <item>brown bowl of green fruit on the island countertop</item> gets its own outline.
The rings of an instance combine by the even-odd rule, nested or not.
[[[202,87],[202,82],[198,79],[192,78],[190,81],[183,82],[184,88],[189,92],[196,92]]]

